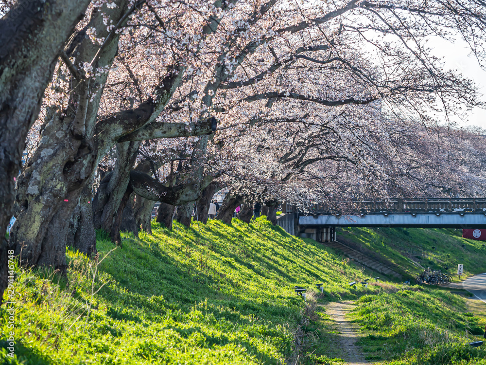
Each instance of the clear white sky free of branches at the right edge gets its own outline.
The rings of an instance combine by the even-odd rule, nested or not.
[[[479,87],[479,92],[483,94],[481,101],[486,102],[486,71],[481,68],[478,60],[473,55],[469,55],[470,51],[466,42],[456,40],[455,43],[451,43],[442,38],[434,37],[429,40],[428,45],[433,48],[435,56],[444,57],[447,68],[457,70],[465,77],[473,80]],[[486,128],[486,110],[474,108],[466,117],[468,120],[461,121],[460,126]]]

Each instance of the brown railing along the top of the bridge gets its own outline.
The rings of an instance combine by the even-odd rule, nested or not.
[[[282,204],[284,213],[297,209],[290,204]],[[329,204],[313,204],[307,209],[310,214],[369,214],[369,213],[484,213],[486,198],[409,198],[389,200],[342,201],[336,207]]]

